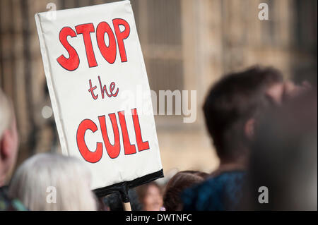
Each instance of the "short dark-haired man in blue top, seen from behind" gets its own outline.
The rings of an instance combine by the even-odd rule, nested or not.
[[[203,109],[220,166],[211,178],[184,191],[184,210],[237,209],[257,115],[279,104],[282,95],[283,76],[274,68],[249,68],[213,85]]]

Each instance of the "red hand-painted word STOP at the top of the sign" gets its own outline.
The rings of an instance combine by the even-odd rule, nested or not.
[[[126,62],[127,56],[124,46],[124,39],[129,36],[129,24],[126,22],[126,20],[120,18],[112,20],[112,24],[114,26],[114,32],[112,32],[112,28],[110,28],[110,25],[106,22],[100,22],[96,28],[96,40],[98,42],[100,54],[102,54],[102,56],[108,63],[114,63],[114,61],[116,60],[117,40],[120,58],[122,59],[122,62]],[[124,30],[121,31],[119,26],[124,26]],[[76,49],[74,49],[67,41],[67,37],[76,37],[76,35],[83,35],[83,42],[86,49],[88,66],[98,66],[98,63],[95,59],[95,52],[93,49],[92,40],[90,39],[90,33],[95,32],[93,23],[77,25],[75,27],[75,30],[76,32],[70,27],[64,27],[60,30],[59,41],[69,53],[69,58],[61,55],[59,56],[59,58],[57,58],[57,62],[61,65],[61,67],[65,68],[68,71],[75,71],[76,68],[78,68],[80,59],[78,57]],[[108,35],[108,45],[105,44],[105,33],[107,33]],[[116,35],[116,38],[114,33]]]

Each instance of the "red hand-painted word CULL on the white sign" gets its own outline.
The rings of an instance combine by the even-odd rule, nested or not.
[[[136,153],[136,147],[135,145],[131,145],[131,142],[129,140],[124,111],[119,111],[117,114],[119,117],[119,123],[122,130],[124,154],[134,154]],[[134,130],[136,135],[136,144],[138,147],[138,151],[141,152],[143,150],[148,150],[149,142],[143,141],[143,138],[141,136],[141,128],[139,124],[137,109],[131,109],[131,115],[134,122]],[[110,117],[110,121],[112,122],[112,131],[114,133],[114,144],[110,143],[110,139],[108,138],[105,115],[98,116],[98,121],[100,123],[100,132],[102,133],[102,139],[106,147],[106,152],[110,158],[114,159],[114,158],[117,158],[119,155],[121,142],[119,138],[119,129],[117,125],[116,114],[112,113],[112,114],[108,114],[108,116]],[[78,150],[81,153],[82,157],[87,162],[95,163],[100,161],[100,159],[102,158],[102,152],[103,152],[102,142],[97,142],[96,149],[94,152],[90,151],[85,142],[86,130],[91,130],[93,133],[95,133],[95,131],[98,130],[98,126],[96,126],[96,124],[88,118],[86,118],[80,123],[76,133],[76,142],[77,142]]]

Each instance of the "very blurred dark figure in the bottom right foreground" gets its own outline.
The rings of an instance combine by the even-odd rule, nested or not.
[[[317,211],[317,89],[264,112],[247,181],[242,209]]]

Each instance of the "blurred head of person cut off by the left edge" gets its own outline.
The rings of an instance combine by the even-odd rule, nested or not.
[[[0,186],[13,169],[18,152],[18,132],[13,106],[0,89]]]

